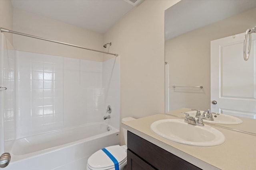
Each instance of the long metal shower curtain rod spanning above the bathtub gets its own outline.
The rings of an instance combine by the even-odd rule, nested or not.
[[[42,37],[36,37],[36,36],[34,36],[34,35],[29,35],[29,34],[25,34],[25,33],[20,33],[20,32],[12,31],[12,30],[5,29],[5,28],[0,28],[0,30],[1,30],[1,32],[14,33],[14,34],[18,34],[18,35],[24,35],[24,36],[26,36],[26,37],[31,37],[31,38],[36,38],[36,39],[42,39],[42,40],[44,40],[44,41],[50,41],[50,42],[53,42],[53,43],[59,43],[59,44],[69,45],[69,46],[77,47],[77,48],[80,48],[80,49],[86,49],[86,50],[91,50],[91,51],[97,51],[97,52],[100,52],[100,53],[105,53],[105,54],[114,55],[114,56],[116,56],[116,57],[118,56],[118,54],[114,54],[114,53],[108,53],[108,52],[104,52],[104,51],[99,51],[99,50],[94,50],[94,49],[88,49],[88,48],[81,47],[81,46],[78,46],[78,45],[73,45],[73,44],[64,43],[64,42],[61,42],[61,41],[55,41],[55,40],[51,40],[51,39],[42,38]]]

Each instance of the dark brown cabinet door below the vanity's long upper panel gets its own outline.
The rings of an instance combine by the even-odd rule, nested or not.
[[[129,149],[127,150],[127,170],[155,170],[144,162],[144,160],[140,159],[134,153],[132,153]]]

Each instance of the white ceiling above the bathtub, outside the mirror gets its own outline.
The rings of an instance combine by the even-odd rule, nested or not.
[[[98,33],[110,29],[135,5],[129,0],[12,0],[13,8]]]

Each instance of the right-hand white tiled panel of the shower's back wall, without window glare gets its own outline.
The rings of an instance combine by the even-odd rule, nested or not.
[[[102,62],[64,58],[64,125],[103,120]]]

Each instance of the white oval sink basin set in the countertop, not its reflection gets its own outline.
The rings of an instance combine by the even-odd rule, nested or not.
[[[190,125],[183,119],[158,120],[151,124],[150,129],[170,141],[197,147],[214,147],[226,141],[217,129],[208,125]]]

